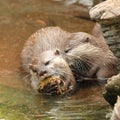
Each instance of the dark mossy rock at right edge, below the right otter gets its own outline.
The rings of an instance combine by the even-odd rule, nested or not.
[[[109,78],[103,91],[105,100],[112,106],[116,103],[118,95],[120,96],[120,74]]]

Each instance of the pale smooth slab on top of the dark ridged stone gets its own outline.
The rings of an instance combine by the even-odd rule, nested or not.
[[[106,0],[90,10],[90,17],[94,20],[114,19],[120,16],[120,0]]]

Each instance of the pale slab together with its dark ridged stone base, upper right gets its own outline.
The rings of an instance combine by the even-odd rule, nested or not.
[[[90,17],[101,24],[103,36],[116,57],[120,71],[120,0],[106,0],[90,12]]]

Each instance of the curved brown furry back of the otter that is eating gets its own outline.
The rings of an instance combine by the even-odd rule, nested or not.
[[[31,35],[21,54],[22,66],[25,71],[29,72],[29,64],[33,64],[42,52],[52,49],[64,51],[69,36],[70,33],[61,30],[59,27],[43,28]]]

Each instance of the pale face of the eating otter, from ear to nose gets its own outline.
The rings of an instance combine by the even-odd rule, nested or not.
[[[50,76],[58,76],[62,71],[64,59],[59,50],[48,50],[40,55],[40,63],[38,63],[38,76],[40,80]]]

